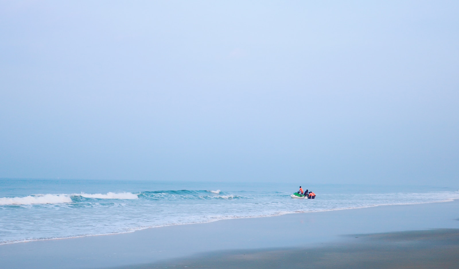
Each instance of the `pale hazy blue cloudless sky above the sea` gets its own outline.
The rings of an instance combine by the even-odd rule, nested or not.
[[[0,1],[0,178],[459,182],[458,1]]]

